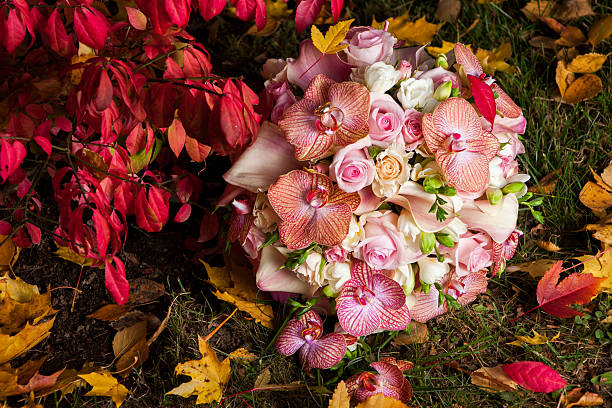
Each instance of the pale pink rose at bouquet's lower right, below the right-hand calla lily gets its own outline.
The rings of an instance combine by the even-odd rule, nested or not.
[[[466,233],[459,238],[450,251],[450,258],[455,264],[458,276],[465,276],[471,272],[491,266],[493,263],[493,241],[484,233]]]

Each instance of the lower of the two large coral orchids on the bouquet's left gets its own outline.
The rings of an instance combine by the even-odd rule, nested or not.
[[[268,190],[268,199],[282,220],[280,239],[289,249],[313,242],[340,244],[360,202],[359,194],[340,190],[329,177],[303,170],[279,177]]]

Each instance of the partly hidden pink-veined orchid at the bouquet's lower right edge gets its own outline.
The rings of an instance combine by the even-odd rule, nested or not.
[[[438,283],[442,291],[452,296],[461,306],[465,306],[474,300],[480,293],[487,290],[486,270],[473,272],[459,277],[454,270],[446,274]],[[439,304],[440,292],[431,285],[429,292],[414,292],[416,303],[410,307],[410,316],[413,320],[425,323],[429,319],[440,316],[448,311],[446,299]]]

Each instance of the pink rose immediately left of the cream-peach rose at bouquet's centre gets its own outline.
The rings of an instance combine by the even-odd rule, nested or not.
[[[364,137],[340,149],[329,166],[330,178],[347,193],[354,193],[369,186],[374,181],[376,168],[368,153],[372,142]]]

